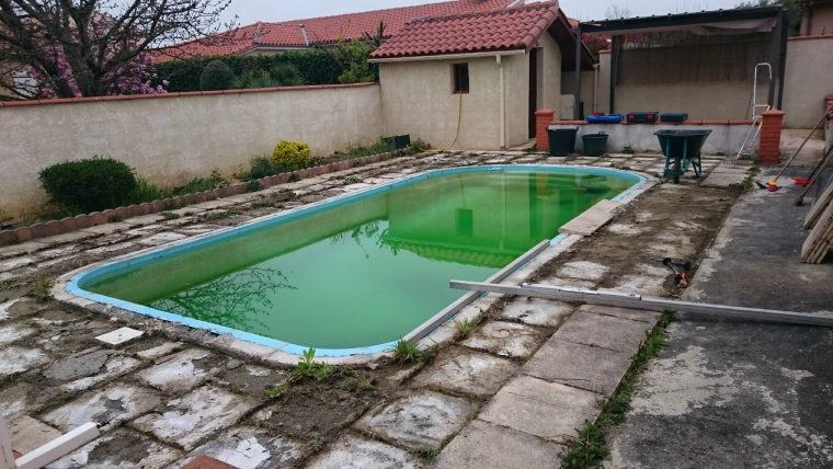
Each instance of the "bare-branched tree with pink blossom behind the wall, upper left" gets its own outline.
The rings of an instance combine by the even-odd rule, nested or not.
[[[164,92],[151,52],[215,34],[230,1],[0,0],[0,88],[20,99]]]

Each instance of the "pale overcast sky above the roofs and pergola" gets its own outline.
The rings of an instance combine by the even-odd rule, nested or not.
[[[733,8],[741,0],[561,0],[561,9],[570,18],[598,20],[615,5],[634,15],[682,13],[685,11]],[[238,23],[285,21],[328,14],[378,10],[383,8],[432,3],[432,0],[232,0],[225,20],[238,15]]]

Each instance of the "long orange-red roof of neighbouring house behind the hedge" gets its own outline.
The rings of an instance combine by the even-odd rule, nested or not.
[[[385,23],[385,36],[390,37],[399,34],[408,22],[415,19],[500,10],[515,2],[515,0],[457,0],[279,23],[258,22],[233,32],[160,49],[155,54],[155,60],[243,54],[259,48],[296,48],[333,44],[341,39],[361,38],[364,34],[374,35],[379,27],[379,22]]]

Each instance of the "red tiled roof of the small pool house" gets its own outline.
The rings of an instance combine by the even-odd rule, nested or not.
[[[562,15],[558,2],[410,22],[372,58],[528,50]]]

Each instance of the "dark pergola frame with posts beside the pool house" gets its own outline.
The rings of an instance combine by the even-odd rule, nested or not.
[[[667,14],[664,16],[642,16],[606,21],[589,21],[579,23],[574,33],[577,37],[583,34],[604,34],[612,36],[611,50],[611,106],[609,113],[616,108],[616,80],[621,66],[623,36],[640,33],[659,33],[670,31],[691,32],[698,35],[728,35],[744,33],[773,33],[771,65],[773,80],[769,82],[768,102],[781,107],[784,94],[784,73],[787,56],[787,10],[780,7],[763,7],[734,10],[701,11],[698,13]],[[577,50],[580,50],[581,41]],[[577,54],[577,57],[580,57]],[[581,96],[581,62],[575,60],[575,96]],[[581,110],[575,106],[573,118],[580,118]]]

